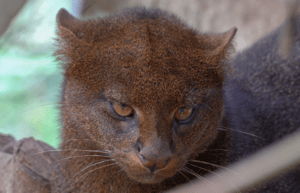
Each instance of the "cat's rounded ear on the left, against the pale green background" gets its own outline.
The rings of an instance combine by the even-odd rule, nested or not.
[[[56,22],[59,30],[59,36],[64,40],[78,40],[79,29],[82,21],[76,19],[64,8],[60,9],[56,15]]]

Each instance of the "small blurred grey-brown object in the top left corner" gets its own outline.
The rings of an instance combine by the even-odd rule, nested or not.
[[[0,37],[19,11],[23,8],[27,0],[2,0],[0,1]]]

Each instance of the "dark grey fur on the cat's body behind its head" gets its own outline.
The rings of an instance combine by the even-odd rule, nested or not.
[[[224,87],[225,116],[232,129],[258,136],[233,132],[231,162],[300,130],[300,16],[289,19],[230,62],[234,73]],[[278,48],[287,25],[293,43],[285,59]],[[250,192],[298,193],[300,169]]]

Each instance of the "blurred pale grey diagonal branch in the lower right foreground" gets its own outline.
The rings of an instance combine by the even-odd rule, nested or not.
[[[194,181],[168,192],[229,193],[251,188],[300,164],[299,139],[300,132],[291,134],[226,170],[204,176],[207,181]]]

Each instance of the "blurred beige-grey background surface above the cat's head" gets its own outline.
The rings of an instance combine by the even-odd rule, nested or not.
[[[160,8],[200,32],[219,33],[236,26],[235,48],[241,51],[285,20],[286,3],[287,0],[85,0],[82,17],[91,19],[133,6]]]

